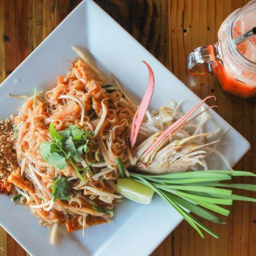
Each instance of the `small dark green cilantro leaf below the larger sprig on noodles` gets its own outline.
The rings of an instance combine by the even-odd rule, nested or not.
[[[70,185],[66,178],[61,177],[54,180],[54,185],[52,186],[53,202],[57,199],[68,200],[70,198],[70,194]]]

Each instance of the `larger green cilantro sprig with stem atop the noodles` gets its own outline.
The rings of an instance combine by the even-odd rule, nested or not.
[[[43,142],[40,145],[44,161],[59,170],[64,169],[68,162],[76,170],[79,179],[84,182],[81,171],[86,170],[88,167],[78,168],[75,163],[81,162],[82,155],[90,151],[88,143],[93,132],[79,129],[76,125],[58,132],[55,130],[53,123],[50,124],[49,130],[52,140]]]

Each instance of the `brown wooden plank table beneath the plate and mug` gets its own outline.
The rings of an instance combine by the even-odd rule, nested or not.
[[[81,1],[0,0],[0,81]],[[256,171],[256,105],[223,93],[214,78],[191,77],[186,70],[188,53],[215,41],[221,22],[247,0],[97,0],[143,46],[155,55],[199,97],[217,97],[217,112],[252,144],[252,149],[235,166]],[[171,92],[170,92],[171,93]],[[171,94],[170,94],[171,97]],[[238,178],[251,182],[250,178]],[[255,181],[255,180],[254,180]],[[256,196],[250,192],[246,196]],[[28,214],[30,214],[28,212]],[[235,202],[227,225],[208,223],[220,235],[200,238],[183,221],[152,254],[154,256],[252,256],[256,255],[256,207]],[[172,221],[172,220],[170,220]],[[28,255],[0,229],[0,256]],[[35,255],[36,256],[36,255]],[[111,255],[110,255],[111,256]]]

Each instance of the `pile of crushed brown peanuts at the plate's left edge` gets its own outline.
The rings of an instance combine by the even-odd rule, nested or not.
[[[7,177],[19,166],[13,137],[12,120],[0,121],[0,193],[10,193],[11,189],[7,183]]]

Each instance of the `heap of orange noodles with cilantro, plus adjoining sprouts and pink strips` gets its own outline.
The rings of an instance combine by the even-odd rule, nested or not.
[[[116,189],[120,176],[207,170],[211,153],[226,161],[211,139],[220,129],[204,131],[209,108],[191,117],[210,97],[185,115],[181,102],[149,112],[154,75],[146,62],[149,84],[137,108],[114,76],[105,81],[78,53],[44,97],[35,90],[13,117],[19,167],[5,186],[17,190],[41,225],[52,227],[51,242],[62,223],[73,232],[109,222],[123,198]]]

